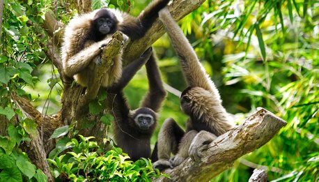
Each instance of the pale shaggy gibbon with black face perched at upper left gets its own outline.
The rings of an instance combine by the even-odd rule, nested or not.
[[[137,40],[145,35],[158,17],[158,12],[170,0],[155,0],[150,3],[139,17],[133,17],[120,10],[102,8],[75,17],[65,27],[61,45],[63,70],[68,77],[74,77],[81,86],[87,87],[93,77],[88,68],[93,59],[99,65],[99,55],[116,31],[124,33],[123,40]],[[128,37],[127,37],[128,36]],[[123,47],[102,77],[101,86],[110,86],[120,79],[122,73]]]

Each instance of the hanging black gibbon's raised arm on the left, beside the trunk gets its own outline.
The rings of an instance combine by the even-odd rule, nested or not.
[[[117,121],[124,121],[130,112],[130,106],[124,97],[123,89],[130,82],[135,73],[143,66],[143,64],[150,59],[152,48],[148,48],[137,60],[133,61],[123,69],[123,74],[120,80],[107,88],[107,92],[111,93],[108,97],[108,103],[111,105],[111,110]]]

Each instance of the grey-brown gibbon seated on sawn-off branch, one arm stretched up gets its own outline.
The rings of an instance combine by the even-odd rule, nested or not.
[[[153,167],[162,170],[180,165],[187,157],[199,160],[201,151],[207,149],[217,136],[231,130],[234,124],[221,105],[219,91],[169,10],[161,10],[159,17],[178,54],[188,84],[180,96],[180,107],[189,116],[186,132],[171,118],[166,119],[160,128],[157,139],[159,160]],[[175,156],[171,157],[171,153]]]

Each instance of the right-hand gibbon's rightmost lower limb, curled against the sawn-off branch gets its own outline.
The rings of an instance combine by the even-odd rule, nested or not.
[[[201,153],[208,149],[208,144],[217,138],[211,132],[201,130],[196,137],[194,137],[192,144],[189,146],[189,157],[194,161],[201,160]]]

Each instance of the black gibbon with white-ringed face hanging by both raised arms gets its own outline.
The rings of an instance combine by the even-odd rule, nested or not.
[[[148,93],[138,109],[130,110],[123,89],[144,63],[148,77]],[[150,138],[157,126],[157,112],[166,97],[152,48],[146,50],[141,59],[126,66],[120,80],[107,87],[107,93],[109,110],[114,116],[112,127],[116,144],[133,161],[139,158],[150,158]]]

